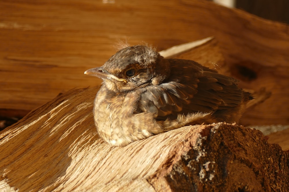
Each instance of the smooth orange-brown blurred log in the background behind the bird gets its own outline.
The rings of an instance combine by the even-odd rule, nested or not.
[[[272,92],[241,122],[289,124],[286,24],[196,0],[1,1],[0,13],[0,109],[31,110],[60,92],[99,84],[83,72],[101,66],[119,40],[164,50],[214,36],[226,75]]]

